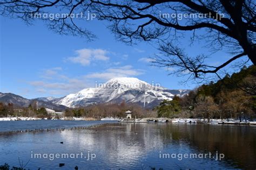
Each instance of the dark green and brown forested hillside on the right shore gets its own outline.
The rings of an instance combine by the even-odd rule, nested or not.
[[[185,97],[163,101],[158,117],[234,118],[256,117],[256,66],[243,67],[217,82],[204,84]]]

